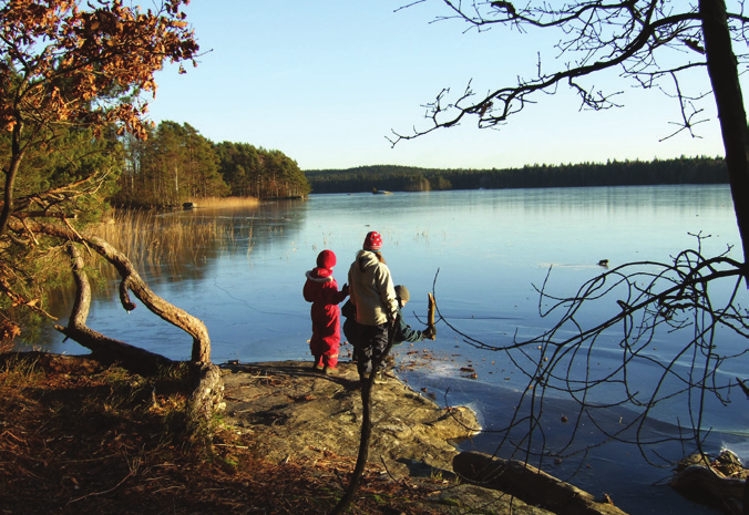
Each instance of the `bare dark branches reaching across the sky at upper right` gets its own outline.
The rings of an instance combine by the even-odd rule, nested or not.
[[[568,2],[557,9],[546,2],[527,2],[516,7],[511,2],[454,2],[444,0],[453,16],[438,18],[440,21],[458,19],[475,30],[494,25],[523,31],[525,27],[557,29],[562,39],[557,43],[560,56],[568,59],[560,70],[542,73],[541,65],[535,79],[519,79],[516,84],[500,87],[478,95],[469,83],[465,92],[454,101],[448,101],[449,90],[442,90],[434,102],[427,104],[425,117],[431,124],[414,127],[411,134],[393,131],[388,137],[391,145],[402,140],[412,140],[438,128],[459,124],[466,115],[478,117],[478,126],[495,127],[521,112],[532,103],[535,93],[554,93],[560,85],[566,85],[577,93],[582,109],[595,111],[617,107],[615,99],[622,91],[595,91],[582,84],[578,79],[597,72],[620,68],[623,76],[629,76],[644,87],[651,87],[659,78],[696,66],[699,61],[689,60],[674,66],[663,66],[655,61],[660,49],[676,50],[700,47],[700,17],[697,12],[671,13],[661,2]],[[738,19],[738,18],[736,18]],[[671,52],[674,53],[674,52]],[[679,93],[681,95],[683,93]]]

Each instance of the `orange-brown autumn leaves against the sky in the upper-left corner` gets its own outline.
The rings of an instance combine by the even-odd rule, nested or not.
[[[81,10],[74,0],[10,0],[0,10],[0,38],[8,59],[0,63],[0,121],[11,130],[57,123],[145,134],[146,105],[155,93],[154,72],[165,60],[192,60],[198,50],[179,11],[185,0],[166,1],[161,12],[140,12],[121,0],[99,0]]]

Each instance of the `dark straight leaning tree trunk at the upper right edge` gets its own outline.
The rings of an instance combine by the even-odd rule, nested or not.
[[[731,47],[726,2],[700,0],[707,70],[718,107],[720,132],[731,185],[733,209],[741,236],[743,260],[749,256],[749,134],[743,107],[738,61]]]

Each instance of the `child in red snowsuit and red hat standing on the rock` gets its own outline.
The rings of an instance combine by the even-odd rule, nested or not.
[[[312,302],[312,338],[309,350],[315,357],[315,369],[334,374],[338,371],[338,347],[340,344],[340,310],[338,303],[348,297],[348,285],[338,291],[338,282],[332,277],[336,255],[322,250],[317,256],[317,268],[307,271],[307,281],[302,293],[307,302]]]

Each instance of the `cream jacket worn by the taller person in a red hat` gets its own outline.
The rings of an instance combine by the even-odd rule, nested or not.
[[[349,296],[357,307],[357,322],[365,326],[390,322],[398,312],[390,269],[369,250],[359,250],[349,268]]]

